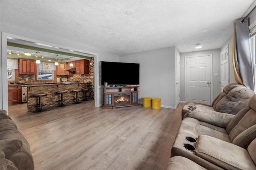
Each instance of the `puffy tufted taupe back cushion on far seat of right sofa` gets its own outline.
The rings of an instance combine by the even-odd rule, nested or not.
[[[254,94],[254,91],[245,86],[235,87],[216,104],[215,109],[218,112],[235,115],[248,106],[248,102]]]

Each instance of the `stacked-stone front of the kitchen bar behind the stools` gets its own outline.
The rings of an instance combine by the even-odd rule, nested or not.
[[[34,111],[38,98],[35,98],[35,94],[47,94],[42,97],[42,104],[46,104],[44,108],[58,106],[60,100],[60,94],[56,92],[68,90],[68,93],[63,94],[64,104],[72,104],[76,97],[76,93],[72,90],[89,89],[89,83],[70,82],[70,83],[51,83],[51,84],[30,84],[27,85],[27,96],[28,96],[28,111]],[[84,96],[83,92],[78,92],[78,98]],[[88,94],[86,94],[88,96]],[[66,106],[68,107],[68,106]]]

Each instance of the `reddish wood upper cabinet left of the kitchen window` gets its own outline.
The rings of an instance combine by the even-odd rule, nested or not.
[[[36,61],[19,59],[19,74],[36,74]]]

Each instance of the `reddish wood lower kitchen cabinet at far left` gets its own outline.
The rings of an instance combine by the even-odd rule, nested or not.
[[[8,85],[8,104],[21,103],[21,88],[20,85]]]

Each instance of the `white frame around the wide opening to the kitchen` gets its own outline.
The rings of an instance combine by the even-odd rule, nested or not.
[[[20,39],[24,42],[32,42],[32,43],[40,43],[40,44],[47,44],[47,45],[50,45],[50,46],[53,46],[53,47],[59,47],[61,49],[67,49],[69,51],[76,51],[78,53],[81,53],[81,54],[90,54],[91,57],[93,57],[93,60],[92,62],[90,62],[90,64],[93,64],[94,66],[94,78],[93,78],[93,84],[94,84],[94,103],[95,103],[95,106],[98,107],[100,106],[100,102],[99,102],[99,93],[98,93],[98,64],[94,64],[94,63],[98,63],[98,54],[96,53],[91,53],[91,52],[88,52],[88,51],[83,51],[83,50],[80,50],[80,49],[71,49],[69,47],[64,47],[64,46],[61,46],[61,45],[56,45],[56,44],[52,44],[52,43],[46,43],[46,42],[42,42],[42,41],[38,41],[38,40],[35,40],[35,39],[29,39],[29,38],[26,38],[26,37],[21,37],[21,36],[18,36],[18,35],[13,35],[13,34],[9,34],[9,33],[4,33],[2,32],[1,34],[1,47],[2,47],[2,60],[1,60],[1,65],[2,65],[2,70],[1,70],[1,74],[2,74],[2,80],[1,80],[1,89],[2,89],[2,95],[1,95],[1,108],[3,109],[6,109],[8,110],[8,100],[6,100],[6,96],[8,96],[8,86],[7,86],[7,55],[6,55],[6,52],[7,52],[7,42],[8,42],[8,39]],[[76,77],[77,78],[77,77]],[[75,78],[75,79],[76,79]]]

